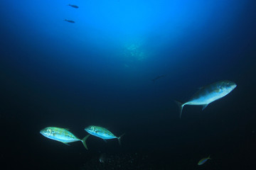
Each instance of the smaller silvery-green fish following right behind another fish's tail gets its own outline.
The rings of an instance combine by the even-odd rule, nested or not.
[[[102,138],[102,140],[111,140],[117,138],[119,145],[121,145],[121,137],[124,135],[122,134],[121,136],[116,137],[112,134],[112,132],[110,132],[110,130],[95,125],[88,126],[87,128],[85,128],[85,131],[88,132],[90,135]]]

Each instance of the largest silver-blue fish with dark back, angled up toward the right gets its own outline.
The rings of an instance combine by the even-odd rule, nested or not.
[[[218,81],[213,84],[209,84],[208,86],[201,87],[199,91],[196,92],[191,98],[191,100],[186,103],[181,103],[176,101],[180,108],[180,118],[182,114],[183,107],[185,105],[201,105],[203,106],[202,111],[208,106],[209,103],[216,101],[220,98],[223,98],[227,94],[229,94],[237,84],[233,81],[224,80]]]

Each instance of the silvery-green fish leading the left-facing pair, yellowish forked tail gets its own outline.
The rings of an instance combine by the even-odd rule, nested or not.
[[[44,137],[48,137],[50,140],[56,140],[58,142],[63,142],[65,145],[68,145],[70,142],[81,141],[85,149],[87,148],[86,140],[90,135],[85,136],[80,140],[78,137],[75,137],[72,132],[66,128],[57,128],[57,127],[47,127],[40,131]]]

